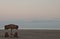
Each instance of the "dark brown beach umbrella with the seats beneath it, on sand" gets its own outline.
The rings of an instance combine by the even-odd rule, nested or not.
[[[13,29],[18,30],[18,25],[15,25],[15,24],[5,25],[5,30],[8,30],[8,29],[11,29],[11,33],[10,33],[11,37],[13,37],[13,36],[14,36],[14,37],[18,37],[18,33],[17,33],[17,32],[15,32],[14,35],[13,35],[13,33],[12,33],[12,30],[13,30]],[[5,37],[9,37],[8,32],[5,32]]]

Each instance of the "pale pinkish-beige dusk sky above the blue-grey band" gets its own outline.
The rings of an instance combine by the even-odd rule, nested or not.
[[[60,19],[60,0],[0,0],[0,21]]]

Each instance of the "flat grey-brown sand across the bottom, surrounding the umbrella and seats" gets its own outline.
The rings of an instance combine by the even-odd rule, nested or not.
[[[0,30],[0,39],[60,39],[60,30],[18,30],[19,38],[4,38],[5,30]]]

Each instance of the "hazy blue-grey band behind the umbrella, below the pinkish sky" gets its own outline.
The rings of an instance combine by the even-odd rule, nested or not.
[[[18,24],[19,28],[56,28],[60,29],[60,20],[40,20],[40,21],[5,21],[0,22],[0,28],[4,28],[5,24]]]

